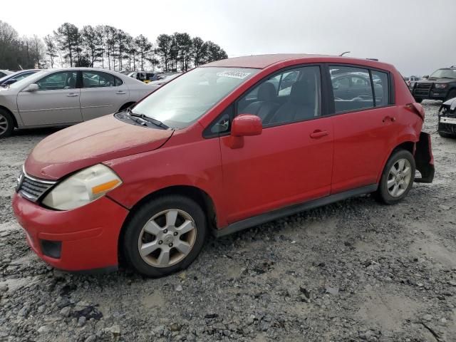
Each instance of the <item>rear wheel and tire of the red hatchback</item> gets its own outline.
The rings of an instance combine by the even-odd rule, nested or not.
[[[394,175],[393,167],[395,172],[399,172],[396,175]],[[409,171],[407,171],[407,167],[410,168]],[[396,204],[407,196],[413,187],[414,180],[415,159],[413,155],[407,150],[396,150],[386,162],[375,198],[385,204]]]

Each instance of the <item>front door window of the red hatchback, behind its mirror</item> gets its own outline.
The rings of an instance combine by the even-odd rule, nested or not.
[[[254,114],[263,126],[294,123],[321,115],[318,66],[306,66],[267,78],[239,99],[237,115]]]

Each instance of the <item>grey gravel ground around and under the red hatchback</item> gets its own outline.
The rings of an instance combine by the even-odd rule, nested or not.
[[[11,193],[52,130],[0,141],[0,341],[456,341],[456,140],[389,207],[357,197],[211,239],[180,274],[66,274],[26,245]]]

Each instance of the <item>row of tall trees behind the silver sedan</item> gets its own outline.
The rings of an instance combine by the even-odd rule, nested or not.
[[[187,71],[227,58],[212,41],[188,33],[160,34],[155,42],[140,34],[133,37],[108,25],[77,26],[65,23],[43,39],[20,38],[0,21],[0,68],[101,67],[111,70]]]

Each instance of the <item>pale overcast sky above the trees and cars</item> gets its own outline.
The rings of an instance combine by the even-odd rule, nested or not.
[[[229,57],[351,51],[346,56],[423,76],[456,65],[455,12],[456,0],[22,0],[20,10],[1,0],[0,20],[21,36],[46,36],[66,21],[111,25],[151,41],[187,32]]]

